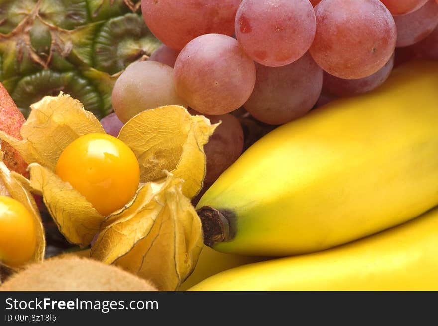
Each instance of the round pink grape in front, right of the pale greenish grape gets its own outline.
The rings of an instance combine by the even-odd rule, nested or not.
[[[189,106],[221,115],[242,106],[255,84],[255,64],[237,40],[206,34],[190,41],[175,62],[175,86]]]

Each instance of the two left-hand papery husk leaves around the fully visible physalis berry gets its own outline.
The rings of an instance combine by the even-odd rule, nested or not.
[[[62,151],[72,141],[88,133],[105,131],[99,120],[68,94],[46,96],[31,105],[31,109],[20,130],[23,140],[1,132],[0,138],[12,145],[27,163],[34,163],[29,167],[33,175],[31,182],[24,177],[19,181],[27,183],[33,193],[43,195],[44,203],[67,240],[86,246],[104,217],[52,171]]]

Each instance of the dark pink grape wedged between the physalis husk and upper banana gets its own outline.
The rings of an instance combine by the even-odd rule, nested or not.
[[[189,110],[192,115],[199,115]],[[243,151],[243,129],[239,120],[231,114],[206,115],[212,124],[222,121],[204,145],[206,154],[206,176],[204,183],[211,184],[219,178]]]

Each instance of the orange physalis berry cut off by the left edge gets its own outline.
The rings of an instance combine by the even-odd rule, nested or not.
[[[36,226],[30,212],[19,201],[0,196],[0,262],[19,267],[29,261],[36,248]]]

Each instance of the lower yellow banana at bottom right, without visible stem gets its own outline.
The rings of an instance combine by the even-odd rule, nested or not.
[[[189,291],[438,291],[438,208],[336,248],[248,264]]]

